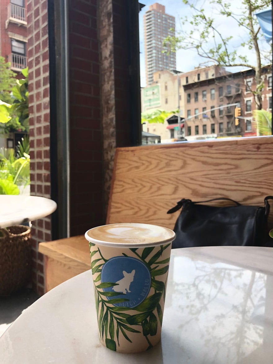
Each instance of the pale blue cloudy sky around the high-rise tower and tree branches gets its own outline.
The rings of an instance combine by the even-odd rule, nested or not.
[[[140,1],[142,4],[146,6],[142,8],[141,12],[139,13],[139,42],[140,42],[140,68],[141,68],[141,87],[146,86],[146,78],[145,78],[145,51],[144,51],[144,35],[143,35],[143,15],[147,10],[149,10],[149,5],[158,2],[159,4],[165,5],[165,12],[169,15],[175,16],[175,29],[176,35],[177,31],[182,29],[181,18],[187,16],[190,18],[194,11],[192,11],[189,5],[183,4],[182,0],[143,0]],[[210,2],[208,0],[198,1],[198,0],[190,0],[191,3],[194,5],[198,5],[199,7],[202,6],[206,9],[207,15],[211,17],[215,17],[215,9],[211,7]],[[241,2],[238,0],[230,0],[232,4],[232,10],[234,13],[241,13],[240,7]],[[231,18],[226,18],[223,16],[216,16],[216,24],[217,29],[222,31],[225,36],[233,36],[231,41],[232,50],[238,49],[240,51],[240,44],[244,39],[246,39],[246,29],[242,27],[238,27],[236,22]],[[228,29],[228,32],[227,32]],[[268,44],[263,39],[261,35],[261,47],[262,49],[268,50]],[[248,60],[250,63],[255,64],[256,57],[254,51],[249,51],[248,48],[241,49],[241,53],[248,56]],[[179,71],[187,72],[193,70],[194,67],[199,66],[200,64],[204,63],[206,59],[197,55],[197,52],[194,50],[179,50],[176,52],[176,68]],[[210,63],[210,65],[213,63]],[[227,68],[230,72],[238,72],[244,67],[233,67]]]

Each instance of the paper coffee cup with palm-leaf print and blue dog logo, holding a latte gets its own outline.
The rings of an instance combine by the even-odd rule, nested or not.
[[[118,223],[90,229],[99,338],[124,353],[145,351],[161,337],[171,242],[166,227]]]

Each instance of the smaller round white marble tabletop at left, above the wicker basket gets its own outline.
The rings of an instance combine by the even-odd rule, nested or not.
[[[13,226],[48,216],[56,208],[56,202],[49,198],[0,195],[0,227]]]

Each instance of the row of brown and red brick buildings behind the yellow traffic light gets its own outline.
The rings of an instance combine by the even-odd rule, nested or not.
[[[264,70],[264,73],[266,76],[262,108],[272,111],[272,74],[269,74],[267,70]],[[253,70],[188,83],[183,85],[183,88],[186,138],[256,135],[256,126],[252,123],[252,111],[256,109],[251,92],[256,89]],[[236,106],[241,108],[241,117],[237,125],[234,116]],[[214,108],[217,110],[211,110]],[[187,118],[190,119],[187,120]]]

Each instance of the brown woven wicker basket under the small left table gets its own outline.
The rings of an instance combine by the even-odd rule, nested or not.
[[[0,228],[0,296],[23,288],[31,274],[31,231],[28,226]]]

